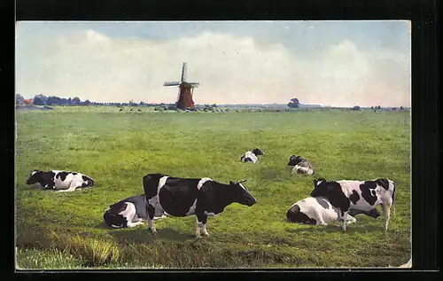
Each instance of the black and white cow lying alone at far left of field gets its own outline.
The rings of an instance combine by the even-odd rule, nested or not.
[[[94,180],[81,173],[51,170],[34,170],[27,179],[27,184],[40,183],[44,189],[58,192],[75,191],[77,188],[91,187]]]

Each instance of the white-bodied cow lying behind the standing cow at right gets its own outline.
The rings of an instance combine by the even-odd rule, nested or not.
[[[380,216],[377,208],[370,211],[361,211],[350,209],[346,218],[346,224],[356,222],[354,215],[364,214],[376,218]],[[323,197],[308,197],[299,200],[293,204],[286,213],[288,222],[297,222],[302,224],[328,225],[328,223],[337,222],[338,210],[330,205],[330,201]]]

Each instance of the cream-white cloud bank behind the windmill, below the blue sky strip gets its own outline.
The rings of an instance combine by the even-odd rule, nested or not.
[[[30,36],[30,35],[27,35]],[[206,31],[175,40],[109,37],[93,29],[17,38],[17,91],[25,97],[172,103],[181,66],[200,82],[198,104],[410,105],[410,55],[361,50],[351,40],[315,58],[253,36]],[[390,93],[387,95],[387,93]]]

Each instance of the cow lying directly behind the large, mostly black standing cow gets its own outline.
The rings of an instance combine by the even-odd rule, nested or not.
[[[114,229],[131,228],[148,220],[147,201],[144,194],[128,197],[110,205],[103,219],[107,226]],[[154,220],[166,217],[156,210]]]

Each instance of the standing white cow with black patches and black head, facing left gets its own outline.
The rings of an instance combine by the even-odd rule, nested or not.
[[[395,215],[395,184],[385,178],[371,181],[327,181],[319,178],[314,180],[311,196],[323,196],[338,209],[338,221],[344,231],[349,209],[370,211],[380,205],[385,215],[385,231],[391,217],[391,206]]]

